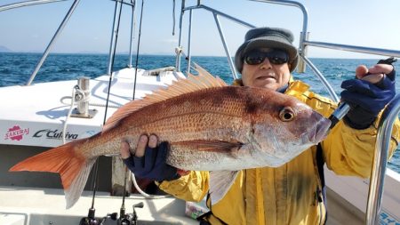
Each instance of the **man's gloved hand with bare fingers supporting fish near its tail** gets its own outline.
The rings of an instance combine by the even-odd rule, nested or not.
[[[141,135],[135,155],[132,156],[129,143],[121,142],[121,157],[124,164],[139,178],[155,181],[172,181],[180,178],[178,169],[165,163],[168,142],[157,146],[156,135]]]

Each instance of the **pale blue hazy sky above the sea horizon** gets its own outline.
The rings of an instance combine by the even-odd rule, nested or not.
[[[0,0],[0,5],[22,0]],[[126,0],[125,0],[126,1]],[[188,0],[188,5],[197,1]],[[279,27],[292,30],[299,45],[302,13],[296,7],[247,0],[202,0],[202,4],[235,16],[257,27]],[[44,52],[59,27],[72,0],[39,4],[0,12],[0,46],[12,52]],[[398,0],[300,0],[308,10],[310,41],[352,44],[400,51],[400,1]],[[139,28],[141,0],[135,21]],[[179,38],[180,0],[176,0],[175,27],[172,25],[173,0],[144,0],[140,53],[173,54]],[[81,0],[52,52],[108,53],[115,2]],[[124,6],[117,52],[129,51],[132,8]],[[188,12],[183,19],[182,44],[188,52]],[[218,28],[211,12],[193,12],[192,55],[225,55]],[[220,25],[233,56],[248,30],[235,22],[220,18]],[[175,35],[172,36],[172,29]],[[134,49],[138,41],[135,31]],[[309,47],[309,57],[377,58],[363,53]]]

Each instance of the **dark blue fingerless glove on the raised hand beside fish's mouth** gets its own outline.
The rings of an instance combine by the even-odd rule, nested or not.
[[[372,125],[380,110],[396,95],[395,76],[393,68],[377,84],[360,79],[343,81],[341,88],[345,90],[340,93],[341,100],[350,106],[344,122],[355,129],[365,129]]]

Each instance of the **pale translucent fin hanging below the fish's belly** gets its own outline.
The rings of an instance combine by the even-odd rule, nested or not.
[[[217,204],[224,197],[230,186],[236,181],[239,171],[213,171],[210,172],[210,197],[212,205]]]

